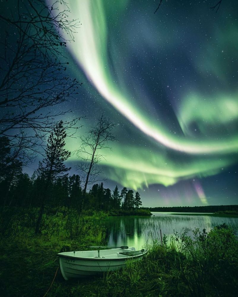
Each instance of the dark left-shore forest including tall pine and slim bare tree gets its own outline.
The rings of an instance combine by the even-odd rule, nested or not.
[[[107,142],[110,129],[110,121],[103,116],[99,119],[99,128],[91,130],[91,135],[96,140],[82,138],[93,148],[93,154],[98,160],[100,155],[96,152],[103,142]],[[106,133],[106,136],[104,134]],[[72,214],[79,222],[82,212],[85,210],[110,211],[124,210],[134,211],[142,205],[139,192],[134,195],[133,190],[124,187],[119,192],[118,186],[111,191],[105,189],[103,183],[94,184],[90,191],[87,185],[90,177],[95,175],[92,171],[95,159],[88,160],[89,167],[83,167],[82,174],[86,173],[86,180],[81,184],[80,176],[68,176],[71,168],[66,167],[65,161],[71,152],[64,149],[66,129],[63,121],[59,121],[50,133],[47,145],[44,149],[44,158],[39,162],[38,168],[29,177],[22,172],[24,158],[19,158],[19,152],[11,146],[10,139],[6,136],[0,137],[0,207],[2,211],[8,207],[34,208],[34,228],[35,233],[40,233],[44,229],[44,222],[49,214],[62,211],[63,217]],[[100,138],[102,138],[101,141]],[[85,150],[84,150],[85,151]],[[84,160],[84,159],[83,159]],[[81,167],[82,169],[82,167]],[[83,175],[85,177],[85,175]],[[144,211],[145,212],[145,211]],[[114,212],[115,214],[116,212]],[[118,213],[119,214],[119,213]],[[121,213],[120,213],[121,214]],[[71,217],[71,218],[70,218]],[[72,220],[72,216],[68,216]]]

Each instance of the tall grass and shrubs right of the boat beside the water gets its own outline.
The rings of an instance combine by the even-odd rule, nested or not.
[[[237,296],[238,238],[226,224],[147,244],[147,256],[104,278],[100,296]],[[110,292],[110,295],[109,295]]]

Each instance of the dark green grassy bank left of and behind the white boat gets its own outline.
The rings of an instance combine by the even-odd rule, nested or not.
[[[0,296],[44,296],[59,265],[57,253],[105,243],[103,212],[79,218],[74,210],[67,214],[64,208],[54,210],[44,216],[36,235],[37,212],[9,208],[1,213]],[[65,291],[58,293],[61,282]],[[55,284],[48,296],[70,296],[73,288],[63,282],[60,271]]]

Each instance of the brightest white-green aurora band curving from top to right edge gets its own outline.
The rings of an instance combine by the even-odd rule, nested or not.
[[[126,1],[127,3],[128,1]],[[236,152],[238,136],[217,141],[196,141],[187,138],[174,137],[164,127],[158,127],[157,122],[148,118],[143,110],[130,102],[130,97],[123,94],[113,81],[107,65],[107,24],[103,1],[72,1],[69,8],[73,19],[80,19],[84,24],[77,34],[75,43],[71,43],[70,51],[77,59],[88,79],[93,83],[99,93],[110,102],[120,113],[131,121],[143,133],[155,139],[164,146],[190,154]],[[236,97],[237,99],[237,97]],[[224,99],[225,100],[225,99]],[[212,105],[212,103],[210,103]],[[204,113],[200,105],[200,113]],[[213,121],[213,118],[210,119]]]

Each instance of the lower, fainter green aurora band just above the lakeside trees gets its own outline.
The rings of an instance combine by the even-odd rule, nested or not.
[[[80,142],[76,138],[69,138],[66,144],[66,148],[71,151],[79,146]],[[100,151],[100,154],[106,156],[106,159],[102,158],[100,162],[104,166],[105,175],[134,190],[148,187],[150,184],[170,186],[181,179],[215,175],[234,162],[231,156],[198,156],[193,157],[190,162],[174,162],[163,151],[156,153],[144,148],[138,150],[137,147],[126,147],[118,143],[112,145],[112,151],[105,149]],[[77,161],[78,158],[73,154],[70,160]]]

